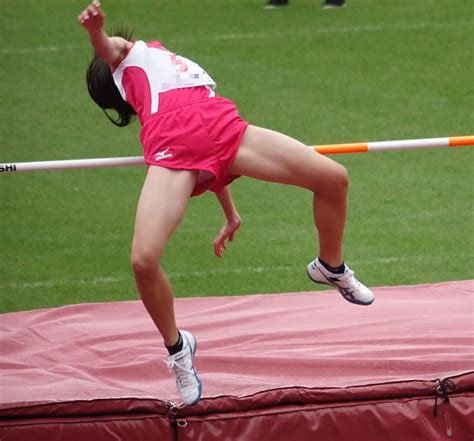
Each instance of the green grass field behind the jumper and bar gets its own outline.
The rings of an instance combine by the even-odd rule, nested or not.
[[[103,1],[108,28],[196,60],[244,118],[308,144],[474,130],[470,0]],[[0,162],[140,154],[89,99],[84,2],[23,0],[0,17]],[[473,150],[339,156],[351,175],[346,260],[371,286],[473,278]],[[129,249],[142,168],[2,175],[1,311],[135,299]],[[164,266],[177,297],[315,289],[311,197],[241,179],[243,225],[212,254],[222,214],[191,201]]]

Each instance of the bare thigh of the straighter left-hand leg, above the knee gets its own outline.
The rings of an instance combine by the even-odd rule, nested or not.
[[[159,258],[184,215],[197,172],[150,166],[138,201],[132,252]]]

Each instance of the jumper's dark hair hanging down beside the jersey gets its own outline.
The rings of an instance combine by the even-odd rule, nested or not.
[[[132,32],[127,29],[117,29],[112,35],[130,41]],[[122,95],[120,95],[115,85],[110,67],[97,54],[94,54],[89,63],[86,73],[86,82],[89,95],[104,111],[110,121],[119,127],[130,124],[137,112],[122,98]],[[110,109],[117,112],[117,118],[112,118],[107,113],[107,110]]]

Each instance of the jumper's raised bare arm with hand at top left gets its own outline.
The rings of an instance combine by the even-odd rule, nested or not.
[[[94,0],[77,17],[79,23],[89,33],[89,39],[96,54],[111,69],[117,67],[128,53],[132,43],[121,37],[109,37],[104,31],[105,14],[98,0]]]

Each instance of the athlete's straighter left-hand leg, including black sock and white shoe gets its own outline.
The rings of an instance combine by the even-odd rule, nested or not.
[[[151,166],[138,202],[132,268],[140,297],[160,331],[170,356],[167,363],[185,404],[197,403],[202,383],[194,368],[196,339],[178,331],[173,293],[161,267],[166,244],[184,215],[197,172]]]

